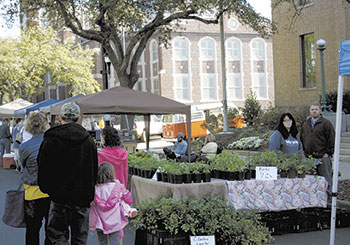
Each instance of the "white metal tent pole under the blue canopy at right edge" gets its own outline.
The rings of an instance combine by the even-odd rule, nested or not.
[[[344,76],[339,76],[338,80],[338,100],[337,100],[337,114],[335,127],[335,146],[334,146],[334,163],[333,163],[333,184],[332,184],[332,216],[331,216],[331,234],[330,245],[334,245],[335,241],[335,223],[337,211],[337,196],[338,192],[338,169],[339,169],[339,152],[340,152],[340,137],[341,137],[341,114],[343,107],[343,87]]]

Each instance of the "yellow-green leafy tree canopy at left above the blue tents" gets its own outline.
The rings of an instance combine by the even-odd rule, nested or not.
[[[95,50],[63,44],[51,28],[27,28],[19,38],[0,41],[0,102],[33,96],[48,86],[71,85],[73,94],[99,90],[92,75]],[[50,81],[44,82],[44,75]]]

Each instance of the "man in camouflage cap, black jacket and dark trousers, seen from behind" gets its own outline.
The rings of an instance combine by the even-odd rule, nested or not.
[[[97,176],[97,149],[89,133],[77,123],[80,108],[62,106],[62,125],[45,132],[38,155],[38,183],[49,194],[48,236],[53,244],[86,244],[89,207],[94,199]]]

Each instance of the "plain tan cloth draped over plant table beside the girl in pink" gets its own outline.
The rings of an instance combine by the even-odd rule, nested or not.
[[[205,182],[192,184],[171,184],[133,175],[131,178],[131,194],[133,204],[138,205],[145,200],[156,198],[160,193],[166,193],[168,197],[182,200],[186,196],[201,198],[209,194],[218,194],[223,198],[228,197],[228,189],[225,182]]]

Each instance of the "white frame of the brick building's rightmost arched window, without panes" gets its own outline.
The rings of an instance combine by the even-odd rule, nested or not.
[[[264,52],[263,52],[263,57],[257,57],[255,55],[256,53],[256,48],[253,48],[253,43],[255,41],[260,41],[262,42],[263,44],[263,47],[264,47]],[[269,86],[268,86],[268,82],[267,82],[267,55],[266,55],[266,41],[262,38],[259,38],[259,37],[256,37],[256,38],[253,38],[250,43],[249,43],[249,46],[250,46],[250,57],[251,57],[251,81],[252,81],[252,84],[251,84],[251,89],[253,92],[256,93],[256,96],[257,96],[257,99],[258,100],[268,100],[269,99],[269,93],[268,93],[268,89],[269,89]],[[263,61],[264,62],[264,73],[258,73],[258,72],[254,72],[254,61]],[[265,88],[266,88],[266,97],[261,97],[260,96],[260,93],[258,93],[258,89],[261,87],[260,84],[257,85],[256,84],[256,77],[257,76],[263,76],[264,77],[264,81],[265,81]]]

